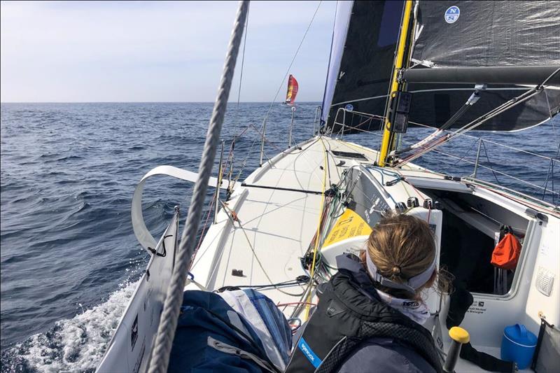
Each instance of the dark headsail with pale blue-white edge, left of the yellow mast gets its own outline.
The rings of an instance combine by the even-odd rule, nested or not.
[[[321,114],[328,127],[338,108],[384,114],[403,4],[339,1]],[[359,124],[359,117],[346,115],[346,128]],[[379,122],[374,122],[372,128],[362,128],[378,127]]]

